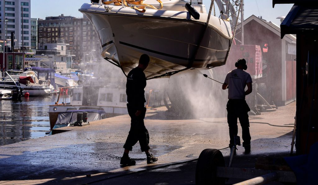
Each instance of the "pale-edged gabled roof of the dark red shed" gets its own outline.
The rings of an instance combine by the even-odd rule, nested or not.
[[[250,17],[248,17],[247,19],[244,20],[244,25],[249,23],[250,21],[256,21],[259,24],[263,25],[264,27],[266,27],[268,30],[271,30],[273,33],[275,33],[278,36],[281,36],[280,33],[280,27],[278,25],[276,25],[275,23],[272,22],[267,22],[259,17],[256,17],[255,15],[252,15]],[[241,25],[239,24],[238,27],[240,27]],[[283,39],[285,39],[286,41],[288,41],[289,43],[296,43],[296,37],[293,35],[286,35]]]

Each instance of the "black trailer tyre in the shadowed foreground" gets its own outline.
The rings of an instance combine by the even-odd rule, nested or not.
[[[217,167],[225,166],[220,150],[204,149],[197,161],[196,184],[225,184],[225,179],[217,177]]]

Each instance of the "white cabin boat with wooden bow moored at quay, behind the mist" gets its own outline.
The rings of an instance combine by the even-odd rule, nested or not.
[[[57,123],[59,114],[69,111],[102,110],[106,117],[128,114],[126,77],[124,75],[114,77],[112,72],[118,73],[120,70],[106,61],[97,61],[94,67],[94,76],[89,78],[86,84],[60,89],[58,100],[54,105],[49,106],[51,130]],[[102,69],[107,69],[108,72]],[[68,99],[65,98],[66,96],[62,96],[66,92],[64,89],[69,89],[70,102],[66,102]]]

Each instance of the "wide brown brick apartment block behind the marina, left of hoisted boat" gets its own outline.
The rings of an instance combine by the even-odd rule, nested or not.
[[[69,43],[67,50],[73,50],[75,62],[84,62],[85,56],[95,55],[100,50],[100,44],[93,25],[88,18],[75,18],[71,16],[45,17],[38,20],[38,49],[43,50],[41,39],[48,39],[56,43],[64,39]],[[41,48],[42,47],[42,48]]]

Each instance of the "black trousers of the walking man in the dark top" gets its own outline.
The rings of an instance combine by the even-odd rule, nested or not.
[[[124,144],[124,149],[132,150],[133,146],[139,141],[142,152],[149,150],[149,133],[145,127],[143,119],[145,118],[146,108],[144,107],[139,116],[135,116],[137,109],[135,106],[127,104],[128,114],[131,118],[130,130]]]

